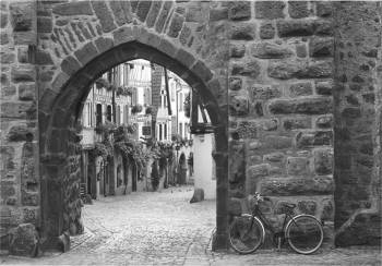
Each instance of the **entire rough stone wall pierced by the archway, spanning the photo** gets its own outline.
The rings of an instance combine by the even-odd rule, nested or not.
[[[272,214],[283,197],[305,208],[310,202],[303,196],[319,196],[312,205],[319,216],[335,221],[337,240],[345,235],[338,244],[366,243],[354,238],[354,232],[361,233],[358,228],[378,223],[380,232],[380,3],[3,2],[2,12],[10,15],[2,20],[0,44],[0,152],[7,161],[0,205],[14,222],[7,230],[25,222],[38,227],[41,213],[41,229],[61,233],[63,217],[48,197],[40,203],[39,186],[45,192],[64,188],[59,177],[65,169],[58,166],[75,149],[75,132],[68,129],[79,111],[73,108],[80,109],[86,95],[75,88],[86,87],[126,55],[180,74],[200,92],[214,119],[219,246],[225,245],[227,176],[229,197],[237,197],[229,203],[231,210],[240,211],[239,200],[260,182],[264,192],[274,194]],[[102,63],[94,64],[98,56]],[[40,157],[22,157],[23,146],[39,149]],[[301,172],[311,177],[299,179]],[[63,193],[52,198],[58,206]]]

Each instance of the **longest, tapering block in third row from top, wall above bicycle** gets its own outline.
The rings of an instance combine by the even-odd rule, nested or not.
[[[251,48],[251,55],[261,59],[287,58],[293,53],[288,47],[268,41],[254,44]]]

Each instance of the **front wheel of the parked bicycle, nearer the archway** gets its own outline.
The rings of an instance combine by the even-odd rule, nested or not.
[[[229,243],[240,254],[250,254],[264,242],[265,230],[263,223],[251,215],[234,218],[229,227]]]

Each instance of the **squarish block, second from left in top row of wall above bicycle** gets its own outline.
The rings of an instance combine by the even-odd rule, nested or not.
[[[254,3],[254,16],[256,19],[283,19],[285,3],[280,1],[256,1]]]

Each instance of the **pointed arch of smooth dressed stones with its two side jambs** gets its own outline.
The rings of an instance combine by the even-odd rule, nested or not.
[[[73,129],[89,84],[111,66],[142,58],[165,65],[178,74],[198,92],[205,104],[219,147],[215,153],[218,184],[220,183],[217,185],[215,247],[225,247],[228,193],[227,102],[225,97],[219,97],[223,92],[219,80],[201,59],[144,27],[122,27],[115,33],[112,38],[99,37],[88,41],[64,58],[51,89],[47,89],[39,101],[40,172],[44,180],[41,222],[44,233],[49,239],[47,244],[57,246],[57,237],[68,229],[68,219],[72,219],[68,217],[73,211],[73,216],[79,216],[81,211],[77,210],[79,203],[73,196],[77,190],[73,180],[76,179],[75,149],[80,141]]]

